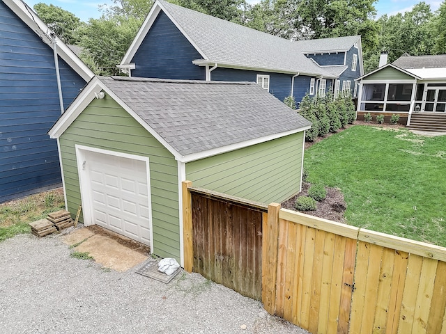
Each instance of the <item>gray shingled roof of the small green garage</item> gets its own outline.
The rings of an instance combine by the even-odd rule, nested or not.
[[[183,156],[311,125],[255,83],[98,79]]]

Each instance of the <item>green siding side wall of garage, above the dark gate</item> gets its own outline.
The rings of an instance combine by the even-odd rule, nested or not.
[[[304,133],[186,164],[194,186],[257,202],[282,202],[300,189]]]

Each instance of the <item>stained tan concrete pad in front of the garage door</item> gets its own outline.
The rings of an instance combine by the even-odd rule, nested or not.
[[[128,271],[128,269],[147,260],[147,256],[138,253],[117,241],[103,235],[94,234],[86,241],[75,247],[77,252],[88,252],[95,262],[103,267],[116,271]]]

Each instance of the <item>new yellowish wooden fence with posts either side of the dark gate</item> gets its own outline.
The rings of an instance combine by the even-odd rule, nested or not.
[[[188,200],[185,269],[192,271]],[[275,203],[262,216],[261,299],[270,314],[311,333],[446,333],[446,248]]]

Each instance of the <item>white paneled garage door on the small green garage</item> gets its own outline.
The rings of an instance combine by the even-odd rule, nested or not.
[[[91,151],[83,152],[83,160],[91,223],[150,246],[146,161]]]

